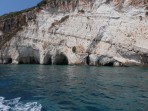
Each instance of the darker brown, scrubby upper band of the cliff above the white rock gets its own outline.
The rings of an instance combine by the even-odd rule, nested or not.
[[[87,11],[87,9],[91,9],[96,5],[96,2],[99,4],[96,8],[100,4],[111,4],[117,10],[127,8],[128,6],[145,7],[148,10],[148,0],[42,0],[32,8],[0,16],[0,39],[2,38],[3,41],[0,42],[0,47],[19,30],[23,29],[23,26],[26,26],[28,21],[35,21],[36,13],[42,9],[55,13],[58,11],[70,12],[77,8],[78,11],[85,12],[85,9]],[[146,15],[148,15],[148,12],[146,12]]]

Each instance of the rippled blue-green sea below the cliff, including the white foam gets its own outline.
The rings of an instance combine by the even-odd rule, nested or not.
[[[0,111],[148,111],[148,68],[0,65]]]

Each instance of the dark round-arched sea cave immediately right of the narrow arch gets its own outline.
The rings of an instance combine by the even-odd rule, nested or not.
[[[68,65],[68,58],[64,54],[58,54],[55,56],[55,65]]]

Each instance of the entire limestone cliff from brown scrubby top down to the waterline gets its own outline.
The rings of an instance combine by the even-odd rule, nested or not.
[[[0,63],[148,65],[148,0],[43,0],[4,15]]]

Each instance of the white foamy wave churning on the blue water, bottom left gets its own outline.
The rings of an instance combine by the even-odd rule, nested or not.
[[[41,111],[41,104],[37,102],[27,102],[24,104],[20,99],[21,97],[5,100],[4,97],[0,97],[0,111]]]

